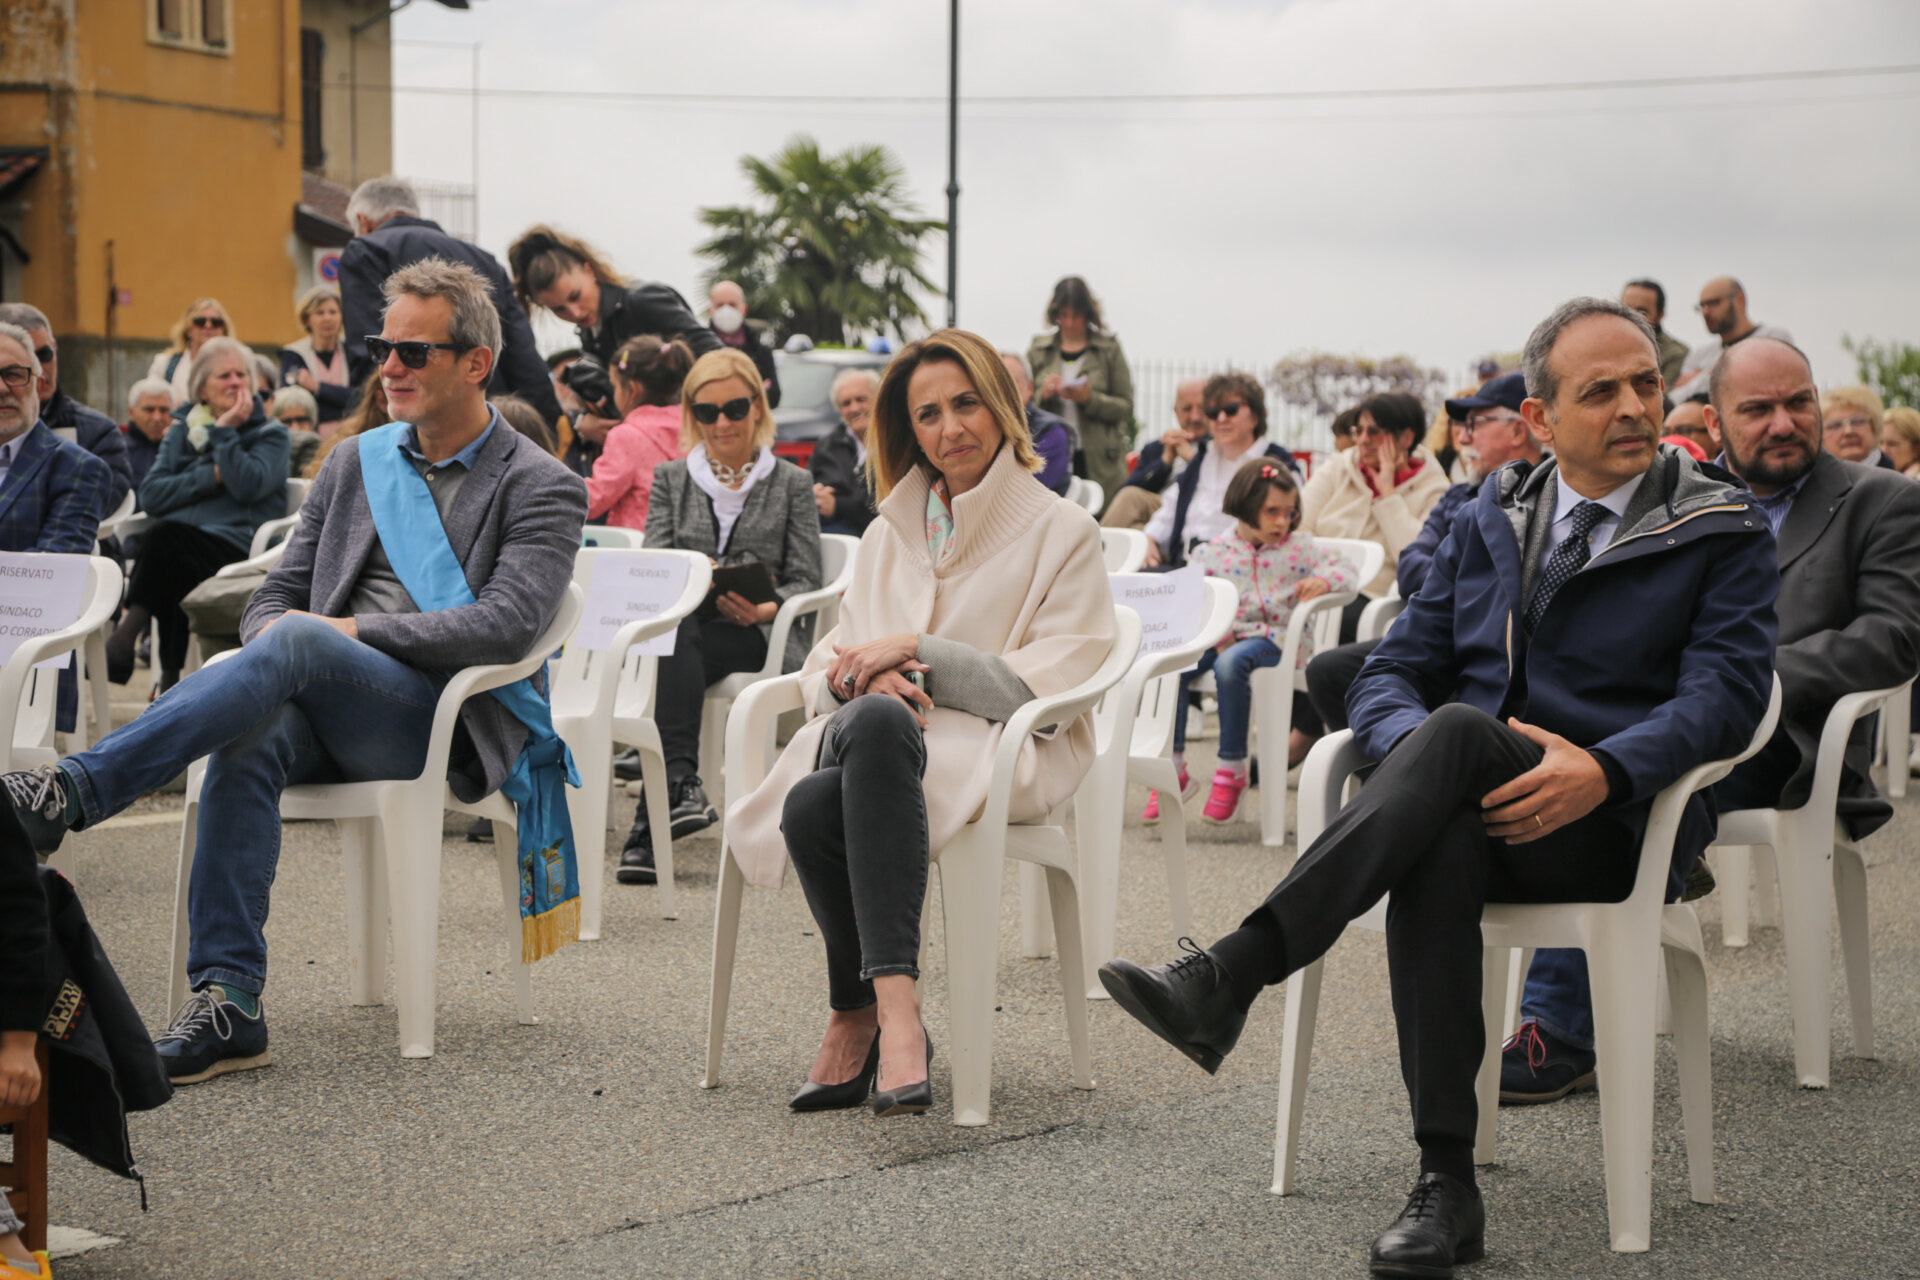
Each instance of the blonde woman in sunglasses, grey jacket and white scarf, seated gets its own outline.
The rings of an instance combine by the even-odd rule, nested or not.
[[[666,752],[676,839],[720,819],[699,775],[707,685],[760,670],[780,601],[820,587],[814,482],[774,455],[774,413],[753,361],[732,347],[703,355],[680,390],[680,411],[689,453],[653,472],[647,545],[699,551],[716,566],[764,564],[774,599],[755,604],[737,593],[710,597],[710,608],[680,624],[672,656],[660,658],[653,714]],[[810,645],[810,628],[795,628],[781,666],[797,670]],[[618,877],[626,885],[655,881],[645,802],[636,806]]]

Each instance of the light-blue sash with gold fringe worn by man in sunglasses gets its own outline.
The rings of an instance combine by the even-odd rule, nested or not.
[[[390,422],[361,434],[367,507],[380,547],[413,603],[422,610],[461,608],[474,603],[474,593],[426,480],[401,455],[409,430],[405,422]],[[553,710],[532,679],[488,693],[526,725],[526,747],[499,791],[518,812],[520,963],[534,963],[580,940],[580,871],[566,814],[566,787],[580,785],[580,771],[553,731]]]

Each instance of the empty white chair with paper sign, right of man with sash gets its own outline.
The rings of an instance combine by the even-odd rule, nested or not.
[[[574,557],[574,583],[586,591],[603,566],[634,560],[685,560],[687,585],[674,606],[653,618],[620,628],[605,651],[566,645],[553,674],[553,727],[574,752],[580,787],[566,793],[574,819],[574,848],[580,854],[580,938],[601,935],[601,894],[607,883],[607,793],[612,787],[612,745],[639,750],[645,777],[647,818],[653,823],[653,856],[659,869],[660,915],[676,919],[674,837],[666,802],[666,756],[660,731],[653,723],[653,685],[659,658],[630,652],[641,641],[664,635],[701,606],[712,583],[712,566],[697,551],[628,551],[620,547],[582,547]]]

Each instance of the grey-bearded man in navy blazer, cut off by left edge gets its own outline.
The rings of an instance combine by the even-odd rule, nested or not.
[[[46,393],[33,338],[0,322],[0,551],[88,555],[113,501],[113,472],[54,434],[40,416]],[[67,668],[54,725],[71,733],[79,708],[81,687]]]

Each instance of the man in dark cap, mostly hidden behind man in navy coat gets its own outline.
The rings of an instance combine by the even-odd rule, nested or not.
[[[1523,466],[1540,462],[1540,441],[1521,418],[1521,401],[1524,399],[1526,378],[1501,374],[1473,395],[1446,403],[1448,416],[1465,428],[1467,447],[1461,455],[1467,461],[1467,482],[1455,484],[1440,495],[1440,501],[1427,514],[1421,535],[1400,553],[1400,562],[1394,566],[1394,585],[1400,589],[1400,599],[1411,601],[1413,593],[1427,581],[1427,570],[1432,568],[1434,553],[1440,551],[1440,543],[1453,528],[1453,518],[1473,501],[1488,476],[1513,461]],[[1340,645],[1308,662],[1308,700],[1313,702],[1313,710],[1319,712],[1329,733],[1346,727],[1346,691],[1379,643],[1371,639]]]

